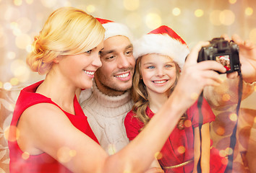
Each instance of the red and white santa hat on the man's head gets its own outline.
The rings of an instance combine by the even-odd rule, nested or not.
[[[117,23],[108,19],[98,19],[98,22],[101,22],[101,25],[105,28],[105,37],[104,40],[108,39],[109,37],[114,36],[125,36],[129,38],[130,42],[133,41],[132,32],[129,30],[129,28],[126,25],[123,25],[121,23]]]

